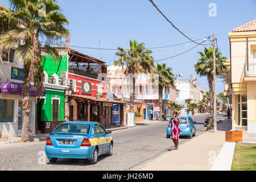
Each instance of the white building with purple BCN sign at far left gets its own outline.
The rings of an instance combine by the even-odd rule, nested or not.
[[[21,135],[23,125],[22,82],[23,69],[21,61],[15,56],[15,50],[3,52],[0,48],[0,135],[9,137]],[[28,130],[35,134],[35,102],[30,97],[30,121]]]

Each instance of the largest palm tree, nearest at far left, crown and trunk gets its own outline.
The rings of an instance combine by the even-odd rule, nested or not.
[[[0,46],[3,51],[15,47],[15,54],[23,63],[23,127],[21,141],[29,140],[28,122],[30,112],[30,85],[38,96],[43,90],[43,67],[41,48],[52,55],[57,61],[59,54],[51,43],[69,37],[69,31],[64,27],[68,25],[67,18],[60,13],[60,6],[55,0],[9,0],[10,9],[0,5],[0,20],[5,27],[11,23],[13,28],[1,31]],[[44,4],[46,9],[39,7]],[[44,43],[39,40],[45,40]]]

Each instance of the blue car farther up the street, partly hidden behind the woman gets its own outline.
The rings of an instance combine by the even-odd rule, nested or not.
[[[196,126],[195,121],[192,120],[189,116],[179,116],[180,117],[180,136],[188,136],[188,138],[192,138],[196,136]],[[167,127],[167,138],[171,136],[171,120],[173,117],[170,118],[168,127]]]

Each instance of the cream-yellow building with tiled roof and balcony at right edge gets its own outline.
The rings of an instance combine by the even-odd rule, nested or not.
[[[256,133],[256,20],[229,32],[224,94],[232,96],[232,129]],[[231,77],[229,81],[229,76]]]

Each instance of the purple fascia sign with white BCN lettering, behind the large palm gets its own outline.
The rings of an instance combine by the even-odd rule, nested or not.
[[[1,93],[22,95],[22,84],[16,82],[2,82]],[[42,96],[45,95],[46,88],[43,87]],[[33,89],[33,85],[30,85],[30,96],[38,96],[38,94],[36,94],[35,90]]]

